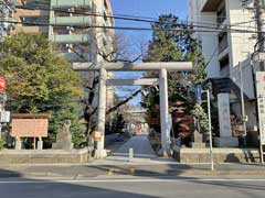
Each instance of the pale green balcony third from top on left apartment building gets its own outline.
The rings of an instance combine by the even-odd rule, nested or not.
[[[91,35],[88,34],[52,34],[50,35],[50,40],[54,43],[89,43]]]

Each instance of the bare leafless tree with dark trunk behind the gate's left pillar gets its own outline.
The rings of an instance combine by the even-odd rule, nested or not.
[[[125,62],[125,63],[135,63],[145,56],[145,52],[147,48],[147,43],[144,41],[132,41],[130,37],[124,35],[124,34],[113,34],[110,36],[110,40],[105,46],[104,44],[100,44],[102,41],[102,34],[96,33],[94,34],[94,41],[92,43],[92,50],[91,51],[96,51],[96,54],[99,55],[99,57],[103,58],[104,62],[107,63],[117,63],[117,62]],[[107,48],[107,50],[106,50]],[[70,47],[70,50],[75,53],[78,57],[85,59],[84,55],[75,51],[74,47]],[[89,52],[87,52],[89,53]],[[92,145],[92,133],[95,130],[95,122],[93,122],[93,118],[95,117],[97,112],[97,107],[93,106],[93,102],[95,100],[95,95],[96,95],[96,88],[98,85],[98,75],[95,75],[93,80],[89,82],[87,81],[85,84],[85,88],[88,90],[88,98],[83,100],[84,105],[84,119],[86,121],[86,136],[87,136],[87,143],[88,145]],[[126,88],[124,88],[126,89]],[[112,112],[117,111],[119,107],[126,105],[130,100],[132,100],[138,94],[141,92],[141,89],[135,90],[135,89],[126,89],[126,91],[130,92],[127,98],[124,100],[120,100],[118,103],[116,103],[114,107],[110,107],[107,111],[106,114],[109,116]]]

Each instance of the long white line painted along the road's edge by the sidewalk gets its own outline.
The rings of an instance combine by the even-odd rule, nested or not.
[[[200,178],[179,178],[179,179],[83,179],[83,180],[0,180],[1,184],[55,184],[55,183],[177,183],[177,182],[265,182],[265,179],[200,179]]]

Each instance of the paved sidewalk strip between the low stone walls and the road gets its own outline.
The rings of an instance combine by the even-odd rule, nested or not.
[[[265,166],[259,164],[220,164],[210,170],[210,164],[158,164],[158,165],[29,165],[0,167],[0,178],[96,178],[113,176],[141,177],[254,177],[265,178]]]

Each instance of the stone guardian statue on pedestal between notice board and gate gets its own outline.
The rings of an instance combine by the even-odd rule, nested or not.
[[[56,135],[56,143],[52,145],[53,150],[73,150],[70,127],[71,121],[66,120]]]

